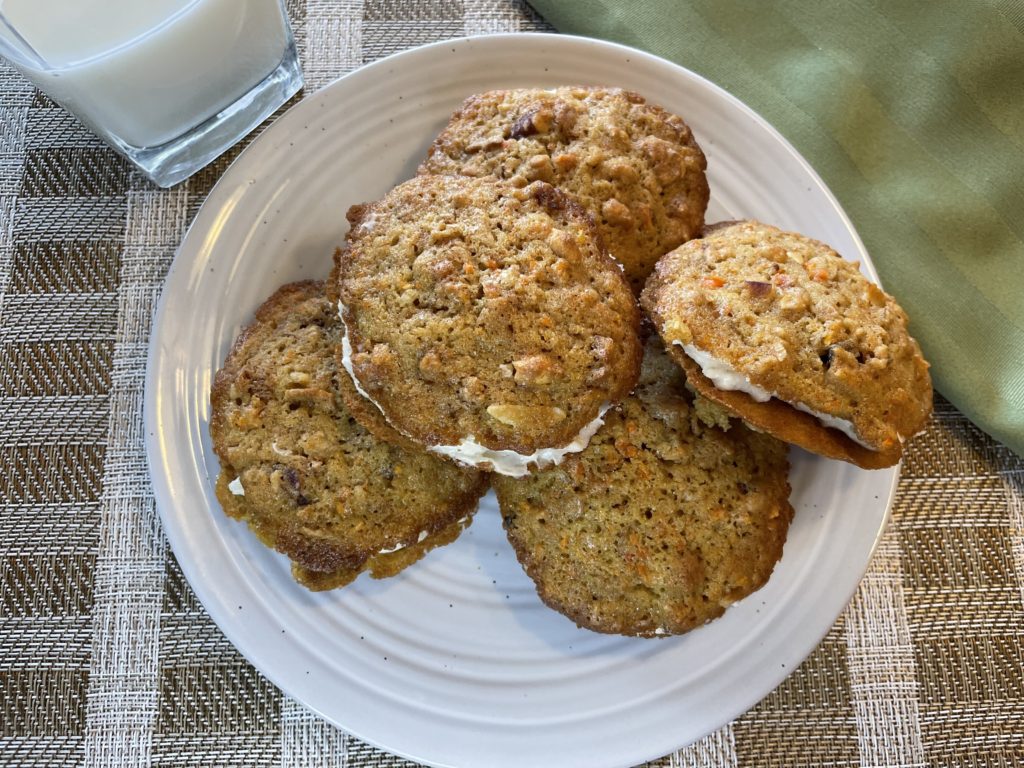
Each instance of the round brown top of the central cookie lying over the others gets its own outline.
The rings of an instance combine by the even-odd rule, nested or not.
[[[420,176],[349,218],[347,365],[411,439],[530,456],[596,428],[636,382],[639,308],[563,193]]]

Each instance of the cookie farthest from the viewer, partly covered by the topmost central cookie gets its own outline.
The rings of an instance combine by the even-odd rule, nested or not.
[[[562,87],[469,97],[420,172],[564,189],[594,215],[639,293],[658,257],[699,232],[706,167],[679,116],[618,88]]]

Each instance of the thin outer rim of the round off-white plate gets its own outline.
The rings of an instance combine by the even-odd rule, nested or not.
[[[239,156],[228,165],[228,167],[223,171],[220,178],[217,179],[216,183],[210,188],[207,194],[206,199],[203,201],[199,210],[196,212],[193,220],[189,222],[188,227],[185,230],[181,239],[181,243],[175,249],[174,257],[169,265],[167,274],[164,278],[163,286],[161,288],[160,297],[157,301],[156,307],[152,315],[152,324],[150,329],[150,338],[147,342],[146,351],[146,361],[145,361],[145,375],[144,375],[144,393],[143,393],[143,407],[142,407],[142,426],[143,426],[143,439],[144,439],[144,450],[146,465],[150,471],[150,477],[153,484],[154,501],[157,507],[158,514],[161,519],[162,529],[164,536],[166,536],[167,541],[171,547],[174,556],[176,557],[181,571],[188,582],[189,587],[194,591],[197,599],[202,603],[204,610],[217,626],[218,630],[225,636],[225,638],[231,643],[232,647],[238,650],[246,660],[251,664],[261,675],[263,675],[267,680],[269,680],[274,686],[276,686],[284,694],[294,697],[296,700],[300,701],[304,707],[309,708],[311,711],[315,712],[322,718],[327,720],[342,729],[344,732],[349,733],[374,746],[381,750],[389,752],[394,755],[398,755],[402,758],[410,759],[417,762],[424,762],[425,758],[423,756],[418,756],[410,752],[403,752],[400,749],[396,749],[393,745],[381,743],[376,741],[373,736],[365,735],[360,732],[349,730],[347,726],[337,722],[329,713],[323,711],[321,708],[310,705],[303,696],[295,692],[295,686],[283,683],[282,679],[287,676],[282,674],[279,668],[272,666],[267,666],[262,664],[260,658],[254,657],[251,654],[252,648],[246,642],[241,628],[231,622],[224,621],[219,612],[211,611],[210,605],[218,602],[213,596],[212,586],[208,585],[205,580],[198,578],[198,566],[193,561],[189,556],[182,557],[180,553],[189,553],[187,547],[184,546],[184,534],[182,530],[178,529],[174,524],[174,510],[168,510],[168,507],[173,506],[171,504],[172,492],[170,487],[170,478],[162,473],[160,467],[160,461],[163,456],[160,434],[160,412],[159,412],[159,380],[157,374],[160,370],[160,335],[159,331],[163,327],[166,318],[166,308],[171,293],[171,283],[172,278],[175,275],[176,268],[182,266],[180,259],[182,258],[182,252],[184,246],[190,242],[190,240],[198,237],[196,232],[200,231],[203,222],[204,210],[209,214],[214,207],[219,208],[226,202],[227,197],[230,195],[231,190],[245,186],[246,182],[243,178],[245,174],[245,169],[247,163],[251,158],[255,157],[262,147],[269,145],[276,134],[286,135],[285,131],[291,127],[293,123],[296,123],[301,114],[306,109],[311,109],[309,105],[314,100],[315,97],[323,95],[325,92],[342,87],[341,84],[349,79],[365,77],[365,73],[368,71],[383,70],[386,67],[393,65],[395,61],[400,60],[406,57],[414,57],[417,55],[423,55],[425,51],[431,49],[442,49],[451,48],[456,45],[475,45],[481,41],[487,40],[498,40],[498,41],[514,41],[514,40],[544,40],[552,43],[556,46],[562,45],[563,43],[572,44],[585,44],[592,45],[598,48],[603,48],[606,51],[629,54],[631,56],[638,56],[645,58],[652,63],[656,63],[660,67],[671,68],[676,75],[689,78],[699,82],[701,87],[712,90],[717,97],[725,99],[734,109],[738,109],[746,114],[746,116],[753,119],[762,130],[771,134],[772,138],[776,140],[795,160],[804,173],[807,174],[808,180],[813,180],[817,185],[819,191],[825,196],[829,202],[833,212],[842,221],[844,227],[849,232],[851,239],[853,240],[855,246],[857,247],[860,255],[863,257],[863,267],[865,271],[868,272],[869,276],[879,285],[881,281],[879,274],[874,268],[873,263],[870,260],[870,256],[867,249],[864,247],[863,242],[860,239],[859,233],[854,227],[852,221],[850,220],[848,214],[839,203],[836,196],[829,189],[829,187],[824,183],[815,169],[810,165],[810,163],[793,146],[793,144],[783,136],[771,123],[764,119],[759,113],[749,106],[746,103],[741,101],[738,97],[729,93],[727,90],[717,85],[713,81],[707,79],[702,75],[688,70],[674,61],[666,59],[647,51],[624,45],[622,43],[610,42],[606,40],[600,40],[596,38],[577,36],[577,35],[562,35],[555,33],[538,33],[538,32],[516,32],[516,33],[495,33],[487,35],[474,35],[474,36],[462,36],[456,38],[449,38],[444,40],[435,41],[432,43],[427,43],[425,45],[415,46],[412,48],[407,48],[400,51],[396,51],[387,56],[383,56],[374,61],[368,62],[360,67],[353,69],[351,72],[345,73],[344,75],[336,78],[330,83],[324,85],[322,88],[311,91],[309,93],[304,93],[303,97],[293,104],[289,110],[287,110],[283,115],[279,116],[273,120],[266,128],[253,139],[240,154]],[[484,42],[486,44],[486,42]],[[240,178],[236,178],[240,177]],[[197,249],[197,251],[200,249]],[[822,639],[828,634],[831,627],[835,626],[836,622],[842,615],[843,612],[848,608],[850,601],[853,599],[864,575],[866,574],[868,568],[870,567],[871,561],[878,551],[880,542],[885,535],[892,517],[893,503],[896,496],[896,489],[900,477],[901,464],[896,467],[890,468],[889,470],[877,470],[880,472],[890,471],[891,479],[887,489],[887,496],[885,499],[885,509],[880,518],[880,523],[878,529],[873,532],[873,540],[871,542],[870,548],[867,552],[867,556],[864,560],[863,568],[856,582],[853,584],[852,589],[848,591],[848,594],[844,595],[843,608],[842,610],[824,627],[820,632],[813,633],[813,640],[811,636],[805,638],[806,642],[801,644],[799,652],[796,654],[799,657],[799,664],[806,660],[814,649],[817,648]],[[881,503],[881,500],[880,500]],[[190,553],[189,553],[190,554]],[[804,648],[803,645],[807,647]],[[723,727],[724,725],[732,722],[736,717],[742,715],[743,713],[750,711],[754,706],[757,705],[761,698],[768,695],[772,690],[778,687],[793,672],[799,667],[799,664],[795,665],[793,669],[788,669],[785,672],[772,676],[771,687],[763,693],[760,693],[758,698],[746,703],[737,703],[737,706],[732,708],[726,708],[729,711],[729,717],[727,720],[721,722],[718,726],[708,730],[702,735],[708,735],[708,733],[714,732],[717,728]],[[745,698],[743,699],[745,701]],[[698,737],[699,738],[699,737]],[[693,741],[687,741],[686,743],[692,743]],[[676,744],[675,746],[669,748],[669,752],[677,749],[681,749],[685,744]],[[651,760],[659,758],[668,754],[663,745],[658,745],[654,750],[640,751],[637,752],[641,757],[636,758],[637,762],[642,762],[644,760]],[[437,766],[447,766],[449,763],[436,762],[432,760],[427,760],[425,762],[427,765],[437,765]]]

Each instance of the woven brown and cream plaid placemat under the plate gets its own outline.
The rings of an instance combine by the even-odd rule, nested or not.
[[[306,92],[380,56],[547,30],[513,0],[289,0]],[[160,527],[152,313],[232,151],[160,190],[0,70],[0,765],[410,765],[224,639]],[[938,396],[892,523],[814,653],[658,766],[1024,761],[1024,461]]]

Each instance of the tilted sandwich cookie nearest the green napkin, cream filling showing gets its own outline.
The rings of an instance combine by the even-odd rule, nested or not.
[[[891,466],[931,413],[906,314],[818,241],[710,227],[658,262],[641,300],[698,392],[808,451]]]

